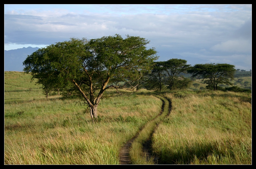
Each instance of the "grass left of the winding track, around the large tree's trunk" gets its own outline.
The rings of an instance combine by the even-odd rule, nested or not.
[[[120,148],[162,104],[148,94],[109,91],[92,124],[77,100],[46,99],[39,87],[26,74],[5,72],[4,164],[119,164]]]

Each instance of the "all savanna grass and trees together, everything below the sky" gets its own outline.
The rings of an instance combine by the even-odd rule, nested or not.
[[[248,72],[148,43],[71,38],[4,72],[4,164],[125,164],[130,140],[127,164],[252,164]]]

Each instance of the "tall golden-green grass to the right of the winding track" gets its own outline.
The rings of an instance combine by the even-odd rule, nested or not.
[[[252,164],[251,94],[176,91],[153,135],[162,164]]]

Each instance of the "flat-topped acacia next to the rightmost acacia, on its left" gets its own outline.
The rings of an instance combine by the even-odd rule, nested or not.
[[[163,67],[165,68],[168,75],[168,88],[172,90],[176,83],[180,83],[179,74],[186,72],[188,67],[190,67],[190,64],[187,64],[186,60],[175,58],[165,61],[163,63]]]

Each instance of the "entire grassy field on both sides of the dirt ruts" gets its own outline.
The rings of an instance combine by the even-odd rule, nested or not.
[[[106,94],[112,97],[101,101],[99,122],[92,123],[77,100],[46,99],[30,75],[4,72],[4,164],[119,164],[123,144],[145,125],[154,128],[147,122],[161,111],[161,98],[171,100],[172,111],[154,121],[153,149],[160,164],[252,164],[251,94]],[[143,139],[134,142],[132,164],[150,164],[138,154]]]

